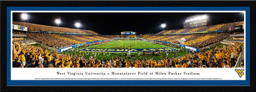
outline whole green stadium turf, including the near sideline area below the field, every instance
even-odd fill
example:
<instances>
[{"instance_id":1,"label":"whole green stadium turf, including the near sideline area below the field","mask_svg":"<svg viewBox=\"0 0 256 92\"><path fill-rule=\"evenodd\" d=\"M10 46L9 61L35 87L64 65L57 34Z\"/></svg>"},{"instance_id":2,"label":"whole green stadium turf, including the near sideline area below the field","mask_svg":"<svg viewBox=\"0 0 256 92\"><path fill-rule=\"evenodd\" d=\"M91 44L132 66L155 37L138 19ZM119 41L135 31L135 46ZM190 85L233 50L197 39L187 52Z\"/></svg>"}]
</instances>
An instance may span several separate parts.
<instances>
[{"instance_id":1,"label":"whole green stadium turf, including the near sideline area below the field","mask_svg":"<svg viewBox=\"0 0 256 92\"><path fill-rule=\"evenodd\" d=\"M174 47L168 47L168 46L165 46L165 45L151 44L150 42L146 42L146 41L143 41L143 40L136 40L136 42L137 42L137 47L135 45L135 40L123 40L123 45L126 46L126 47L128 45L132 45L132 48L164 48L164 47L174 48ZM116 46L117 44L121 47L121 40L113 40L111 42L106 42L105 44L94 45L92 47L82 47L82 48L95 48L95 46L97 46L97 48L110 48L110 46L113 48L113 46L114 45ZM70 52L67 50L67 51L62 52L62 53L63 54L69 53L70 55L76 54L78 56L82 55L82 53L84 53L84 58L89 58L89 56L94 56L95 52L92 54L92 53L87 52L87 51L84 51L84 52L77 51L77 50L80 50L82 48L76 48L76 49L74 49L73 51L70 51ZM180 48L177 48L177 49L180 49ZM112 56L114 58L116 58L116 56L120 56L120 55L121 55L122 58L125 57L126 59L129 57L129 56L128 57L124 56L125 52L124 53L111 53L110 52L110 55L107 55L106 52L104 52L104 53L105 53L105 55L103 55L102 52L97 52L96 58L98 58L98 59L110 59L110 58L112 58ZM168 54L168 57L172 58L172 57L183 56L183 55L186 55L186 53L187 53L186 51L178 52L177 55L176 55L175 52L170 52ZM132 58L133 60L139 59L139 58L141 58L141 59L143 59L143 58L154 58L156 60L160 60L161 56L162 56L162 58L165 58L167 56L165 52L162 52L159 56L142 55L141 52L140 52L140 55L141 55L140 57L138 57L138 53L131 53L131 55L135 55L135 58Z\"/></svg>"}]
</instances>

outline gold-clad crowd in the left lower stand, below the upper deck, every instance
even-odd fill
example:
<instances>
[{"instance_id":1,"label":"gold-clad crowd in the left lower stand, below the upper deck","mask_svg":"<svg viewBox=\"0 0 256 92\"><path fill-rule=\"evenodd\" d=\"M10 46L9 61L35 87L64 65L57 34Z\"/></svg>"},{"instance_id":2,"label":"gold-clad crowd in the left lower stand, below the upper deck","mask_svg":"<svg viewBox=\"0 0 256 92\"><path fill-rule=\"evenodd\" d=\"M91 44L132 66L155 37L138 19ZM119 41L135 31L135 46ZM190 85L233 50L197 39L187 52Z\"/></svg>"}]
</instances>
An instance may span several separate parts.
<instances>
[{"instance_id":1,"label":"gold-clad crowd in the left lower stand, below the upper deck","mask_svg":"<svg viewBox=\"0 0 256 92\"><path fill-rule=\"evenodd\" d=\"M73 35L73 34L44 34L44 33L26 33L28 37L34 39L40 44L49 47L60 48L68 45L82 44L97 40L106 40L103 37L95 35Z\"/></svg>"}]
</instances>

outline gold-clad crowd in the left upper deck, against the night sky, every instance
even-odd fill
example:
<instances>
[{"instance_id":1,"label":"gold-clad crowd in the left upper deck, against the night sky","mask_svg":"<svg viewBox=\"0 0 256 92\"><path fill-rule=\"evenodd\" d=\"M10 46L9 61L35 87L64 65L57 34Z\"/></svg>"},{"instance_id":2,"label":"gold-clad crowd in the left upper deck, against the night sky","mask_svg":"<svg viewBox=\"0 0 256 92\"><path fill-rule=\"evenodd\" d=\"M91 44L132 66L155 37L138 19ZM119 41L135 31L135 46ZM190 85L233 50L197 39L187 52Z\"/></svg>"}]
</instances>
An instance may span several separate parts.
<instances>
[{"instance_id":1,"label":"gold-clad crowd in the left upper deck, against the night sky","mask_svg":"<svg viewBox=\"0 0 256 92\"><path fill-rule=\"evenodd\" d=\"M62 32L62 33L82 33L82 34L98 34L94 31L85 30L85 29L73 29L73 28L63 28L57 26L46 26L38 25L33 23L24 23L20 21L13 21L14 25L26 26L29 31L52 31L52 32Z\"/></svg>"}]
</instances>

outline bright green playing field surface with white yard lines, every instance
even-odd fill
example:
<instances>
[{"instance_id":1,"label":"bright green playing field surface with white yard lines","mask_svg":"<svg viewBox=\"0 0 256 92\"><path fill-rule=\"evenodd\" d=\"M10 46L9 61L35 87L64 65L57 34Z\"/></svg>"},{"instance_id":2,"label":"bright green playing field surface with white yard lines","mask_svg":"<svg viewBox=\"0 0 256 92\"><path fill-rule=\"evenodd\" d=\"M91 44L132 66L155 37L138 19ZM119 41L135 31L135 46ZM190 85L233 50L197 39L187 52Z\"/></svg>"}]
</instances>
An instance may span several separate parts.
<instances>
[{"instance_id":1,"label":"bright green playing field surface with white yard lines","mask_svg":"<svg viewBox=\"0 0 256 92\"><path fill-rule=\"evenodd\" d=\"M136 43L136 44L135 44ZM116 47L116 45L118 45L119 47L125 46L126 48L128 48L128 46L132 45L132 47L130 48L169 48L168 46L165 45L158 45L158 44L152 44L150 42L146 42L144 40L113 40L111 42L106 42L105 44L100 44L100 45L94 45L92 47L88 47L88 48L114 48L114 46ZM170 47L170 48L174 48L174 47Z\"/></svg>"}]
</instances>

